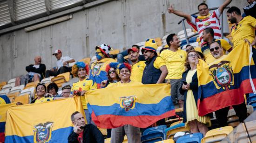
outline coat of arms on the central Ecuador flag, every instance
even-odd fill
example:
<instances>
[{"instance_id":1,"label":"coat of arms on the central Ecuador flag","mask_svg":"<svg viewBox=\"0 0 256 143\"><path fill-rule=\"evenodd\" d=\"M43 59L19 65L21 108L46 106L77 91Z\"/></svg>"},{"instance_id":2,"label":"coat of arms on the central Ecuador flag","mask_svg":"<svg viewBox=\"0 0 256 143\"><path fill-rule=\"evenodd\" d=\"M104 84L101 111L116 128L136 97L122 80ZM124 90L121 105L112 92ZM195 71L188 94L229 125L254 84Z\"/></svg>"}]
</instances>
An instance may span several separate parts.
<instances>
[{"instance_id":1,"label":"coat of arms on the central Ecuador flag","mask_svg":"<svg viewBox=\"0 0 256 143\"><path fill-rule=\"evenodd\" d=\"M125 111L135 108L136 96L120 97L120 107Z\"/></svg>"}]
</instances>

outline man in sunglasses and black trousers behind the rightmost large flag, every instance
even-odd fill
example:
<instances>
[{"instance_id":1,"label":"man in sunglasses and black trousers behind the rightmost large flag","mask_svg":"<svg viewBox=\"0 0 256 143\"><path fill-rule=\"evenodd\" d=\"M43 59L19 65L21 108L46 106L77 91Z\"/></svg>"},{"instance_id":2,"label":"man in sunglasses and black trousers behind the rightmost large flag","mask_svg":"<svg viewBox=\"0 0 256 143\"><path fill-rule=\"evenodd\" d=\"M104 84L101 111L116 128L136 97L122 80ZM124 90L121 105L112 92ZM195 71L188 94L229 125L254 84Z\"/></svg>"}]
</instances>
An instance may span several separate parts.
<instances>
[{"instance_id":1,"label":"man in sunglasses and black trousers behind the rightmost large flag","mask_svg":"<svg viewBox=\"0 0 256 143\"><path fill-rule=\"evenodd\" d=\"M214 41L210 44L210 52L212 56L216 58L216 60L221 60L226 56L223 54L222 46L217 41ZM236 99L232 99L232 100L236 100ZM239 121L243 122L243 120L247 117L247 108L246 108L245 102L243 102L242 104L232 105L232 106L236 111L236 115L239 117ZM215 111L217 122L219 123L220 127L228 125L227 124L228 112L229 112L229 107L225 107Z\"/></svg>"}]
</instances>

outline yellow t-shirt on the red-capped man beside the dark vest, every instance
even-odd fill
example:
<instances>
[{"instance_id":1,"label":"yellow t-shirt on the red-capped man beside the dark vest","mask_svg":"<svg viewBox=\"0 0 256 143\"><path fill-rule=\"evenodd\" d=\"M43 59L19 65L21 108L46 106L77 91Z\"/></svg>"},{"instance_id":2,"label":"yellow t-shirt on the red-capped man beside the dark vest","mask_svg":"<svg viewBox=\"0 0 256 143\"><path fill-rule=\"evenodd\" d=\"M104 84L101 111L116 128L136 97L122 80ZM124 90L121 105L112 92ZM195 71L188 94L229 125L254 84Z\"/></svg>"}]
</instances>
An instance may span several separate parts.
<instances>
[{"instance_id":1,"label":"yellow t-shirt on the red-capped man beside the dark vest","mask_svg":"<svg viewBox=\"0 0 256 143\"><path fill-rule=\"evenodd\" d=\"M145 61L139 61L138 63L131 66L132 75L130 78L132 81L141 82L145 66L146 66Z\"/></svg>"}]
</instances>

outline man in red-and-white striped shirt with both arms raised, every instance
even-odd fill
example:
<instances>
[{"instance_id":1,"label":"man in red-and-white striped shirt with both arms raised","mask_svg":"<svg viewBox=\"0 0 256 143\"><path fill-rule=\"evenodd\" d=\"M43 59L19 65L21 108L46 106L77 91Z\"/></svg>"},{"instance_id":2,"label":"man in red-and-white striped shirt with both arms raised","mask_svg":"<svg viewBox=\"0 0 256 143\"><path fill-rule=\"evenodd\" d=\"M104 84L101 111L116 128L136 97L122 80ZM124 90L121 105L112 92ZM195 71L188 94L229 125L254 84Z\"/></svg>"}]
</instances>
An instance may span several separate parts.
<instances>
[{"instance_id":1,"label":"man in red-and-white striped shirt with both arms raised","mask_svg":"<svg viewBox=\"0 0 256 143\"><path fill-rule=\"evenodd\" d=\"M199 33L200 41L203 43L202 30L207 27L211 27L215 30L215 39L221 39L221 26L219 18L223 13L224 8L227 7L231 1L232 0L225 0L225 2L211 14L209 14L209 8L207 4L201 3L197 7L200 16L189 15L187 13L177 11L173 8L173 6L168 8L168 12L186 18L189 25L191 25Z\"/></svg>"}]
</instances>

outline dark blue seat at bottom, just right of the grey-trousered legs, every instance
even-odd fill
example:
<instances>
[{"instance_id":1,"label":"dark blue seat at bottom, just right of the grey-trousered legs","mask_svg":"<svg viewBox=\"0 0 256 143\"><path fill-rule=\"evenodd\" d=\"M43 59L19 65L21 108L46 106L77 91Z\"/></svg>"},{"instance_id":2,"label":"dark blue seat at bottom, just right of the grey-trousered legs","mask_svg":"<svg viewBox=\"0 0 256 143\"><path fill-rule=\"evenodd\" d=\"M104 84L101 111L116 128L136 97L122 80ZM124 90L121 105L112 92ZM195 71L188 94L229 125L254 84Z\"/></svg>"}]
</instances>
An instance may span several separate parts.
<instances>
[{"instance_id":1,"label":"dark blue seat at bottom, just right of the grey-trousered legs","mask_svg":"<svg viewBox=\"0 0 256 143\"><path fill-rule=\"evenodd\" d=\"M164 130L166 125L148 128L141 136L141 143L155 143L165 139Z\"/></svg>"}]
</instances>

